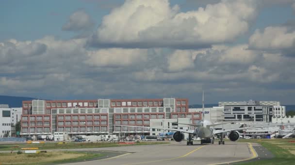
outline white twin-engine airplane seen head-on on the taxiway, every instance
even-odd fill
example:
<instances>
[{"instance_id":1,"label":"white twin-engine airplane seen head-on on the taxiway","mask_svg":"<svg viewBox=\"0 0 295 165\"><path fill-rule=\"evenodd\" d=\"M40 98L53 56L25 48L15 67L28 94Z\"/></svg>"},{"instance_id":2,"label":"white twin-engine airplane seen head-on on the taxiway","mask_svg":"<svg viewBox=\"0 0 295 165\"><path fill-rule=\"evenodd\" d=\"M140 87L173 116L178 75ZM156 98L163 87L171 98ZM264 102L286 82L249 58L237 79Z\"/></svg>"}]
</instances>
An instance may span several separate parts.
<instances>
[{"instance_id":1,"label":"white twin-engine airplane seen head-on on the taxiway","mask_svg":"<svg viewBox=\"0 0 295 165\"><path fill-rule=\"evenodd\" d=\"M202 99L202 105L203 105L203 112L202 112L202 119L204 119L204 91L203 91L203 99ZM232 123L232 122L230 122ZM221 130L215 130L214 126L216 125L222 125L222 124L229 124L229 123L219 123L219 124L213 124L213 122L209 120L200 120L197 122L197 124L183 124L178 123L182 125L190 125L197 127L195 130L183 130L183 129L175 129L175 128L163 128L163 127L144 127L144 126L133 126L133 125L116 125L115 126L126 126L126 127L138 127L138 128L154 128L154 129L162 129L164 131L174 131L172 138L180 142L184 139L184 134L189 134L189 139L187 141L187 145L193 145L192 137L201 138L201 144L203 143L214 143L215 137L219 135L220 141L218 141L218 144L225 144L223 140L223 134L229 132L229 139L231 141L237 141L240 138L239 130L246 130L250 128L262 128L266 126L254 126L254 127L242 127L242 128L234 128L234 129L221 129ZM267 126L275 126L275 125L267 125Z\"/></svg>"}]
</instances>

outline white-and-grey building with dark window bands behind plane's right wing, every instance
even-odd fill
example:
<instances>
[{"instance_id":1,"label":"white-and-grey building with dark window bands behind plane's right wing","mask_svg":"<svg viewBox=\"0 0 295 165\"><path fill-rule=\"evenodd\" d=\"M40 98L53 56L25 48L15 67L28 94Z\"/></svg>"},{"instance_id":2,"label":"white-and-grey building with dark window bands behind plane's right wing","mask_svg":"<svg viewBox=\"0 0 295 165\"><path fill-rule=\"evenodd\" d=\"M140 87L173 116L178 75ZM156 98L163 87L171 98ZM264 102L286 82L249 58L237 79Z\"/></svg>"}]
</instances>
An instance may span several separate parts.
<instances>
[{"instance_id":1,"label":"white-and-grey building with dark window bands behind plane's right wing","mask_svg":"<svg viewBox=\"0 0 295 165\"><path fill-rule=\"evenodd\" d=\"M267 101L263 101L263 104ZM278 101L269 101L270 105L262 105L260 101L249 100L240 102L219 102L219 106L224 107L224 117L226 121L254 121L271 122L273 115L273 105L278 105Z\"/></svg>"}]
</instances>

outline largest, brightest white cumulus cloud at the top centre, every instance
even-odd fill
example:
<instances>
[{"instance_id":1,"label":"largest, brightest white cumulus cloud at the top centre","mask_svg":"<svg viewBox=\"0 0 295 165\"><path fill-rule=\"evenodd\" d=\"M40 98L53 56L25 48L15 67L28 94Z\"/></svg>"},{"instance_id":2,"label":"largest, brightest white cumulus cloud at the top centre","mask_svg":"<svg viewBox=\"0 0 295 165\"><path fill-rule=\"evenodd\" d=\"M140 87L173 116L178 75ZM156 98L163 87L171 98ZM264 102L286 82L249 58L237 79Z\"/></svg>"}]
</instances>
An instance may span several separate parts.
<instances>
[{"instance_id":1,"label":"largest, brightest white cumulus cloud at the top centre","mask_svg":"<svg viewBox=\"0 0 295 165\"><path fill-rule=\"evenodd\" d=\"M168 0L126 0L104 16L89 44L110 47L199 48L231 42L248 31L254 0L222 0L186 13Z\"/></svg>"}]
</instances>

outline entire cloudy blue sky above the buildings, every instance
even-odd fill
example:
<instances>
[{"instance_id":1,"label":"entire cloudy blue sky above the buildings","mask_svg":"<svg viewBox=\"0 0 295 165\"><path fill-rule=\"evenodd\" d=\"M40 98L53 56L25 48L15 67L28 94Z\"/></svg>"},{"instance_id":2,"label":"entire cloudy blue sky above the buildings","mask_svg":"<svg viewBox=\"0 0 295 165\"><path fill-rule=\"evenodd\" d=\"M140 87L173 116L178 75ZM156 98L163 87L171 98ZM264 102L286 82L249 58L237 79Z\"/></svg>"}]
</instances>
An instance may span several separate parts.
<instances>
[{"instance_id":1,"label":"entire cloudy blue sky above the buildings","mask_svg":"<svg viewBox=\"0 0 295 165\"><path fill-rule=\"evenodd\" d=\"M0 95L295 104L295 0L1 0Z\"/></svg>"}]
</instances>

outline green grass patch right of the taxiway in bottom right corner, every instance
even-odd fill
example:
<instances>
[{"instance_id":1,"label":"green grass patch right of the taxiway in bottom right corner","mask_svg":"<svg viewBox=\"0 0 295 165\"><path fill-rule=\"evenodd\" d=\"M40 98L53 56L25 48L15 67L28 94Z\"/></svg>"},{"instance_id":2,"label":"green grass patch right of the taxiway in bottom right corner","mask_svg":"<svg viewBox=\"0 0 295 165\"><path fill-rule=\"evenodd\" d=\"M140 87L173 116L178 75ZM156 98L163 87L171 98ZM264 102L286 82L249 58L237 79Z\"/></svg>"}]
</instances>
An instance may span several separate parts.
<instances>
[{"instance_id":1,"label":"green grass patch right of the taxiway in bottom right corner","mask_svg":"<svg viewBox=\"0 0 295 165\"><path fill-rule=\"evenodd\" d=\"M295 164L295 143L289 143L295 139L241 139L243 142L255 142L261 144L271 151L275 158L260 160L238 165L294 165Z\"/></svg>"}]
</instances>

